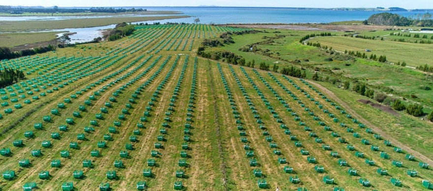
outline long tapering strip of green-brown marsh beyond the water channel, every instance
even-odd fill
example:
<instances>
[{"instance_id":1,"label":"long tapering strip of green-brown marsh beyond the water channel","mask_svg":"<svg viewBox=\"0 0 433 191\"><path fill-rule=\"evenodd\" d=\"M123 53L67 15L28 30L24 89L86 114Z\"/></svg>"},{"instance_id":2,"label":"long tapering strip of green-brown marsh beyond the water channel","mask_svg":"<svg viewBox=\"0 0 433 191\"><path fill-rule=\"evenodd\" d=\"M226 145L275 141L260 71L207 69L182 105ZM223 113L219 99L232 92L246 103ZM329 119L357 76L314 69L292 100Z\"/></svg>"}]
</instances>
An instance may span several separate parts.
<instances>
[{"instance_id":1,"label":"long tapering strip of green-brown marsh beyond the water channel","mask_svg":"<svg viewBox=\"0 0 433 191\"><path fill-rule=\"evenodd\" d=\"M99 27L122 22L154 21L163 19L186 18L189 16L152 16L152 17L108 17L87 19L66 19L56 21L1 21L0 32L35 31L44 29Z\"/></svg>"}]
</instances>

